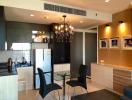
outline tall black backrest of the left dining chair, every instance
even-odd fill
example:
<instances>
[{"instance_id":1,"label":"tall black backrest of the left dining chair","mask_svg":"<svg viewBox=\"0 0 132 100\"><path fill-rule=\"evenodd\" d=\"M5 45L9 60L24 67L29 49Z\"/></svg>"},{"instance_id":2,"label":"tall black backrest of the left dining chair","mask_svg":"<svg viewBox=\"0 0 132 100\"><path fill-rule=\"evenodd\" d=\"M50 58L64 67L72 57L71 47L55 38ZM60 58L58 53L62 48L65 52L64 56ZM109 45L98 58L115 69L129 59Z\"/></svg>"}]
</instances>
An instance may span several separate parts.
<instances>
[{"instance_id":1,"label":"tall black backrest of the left dining chair","mask_svg":"<svg viewBox=\"0 0 132 100\"><path fill-rule=\"evenodd\" d=\"M39 89L39 93L43 97L44 92L46 92L46 80L45 80L44 72L43 72L42 69L38 68L38 74L39 74L39 78L40 78L40 89Z\"/></svg>"}]
</instances>

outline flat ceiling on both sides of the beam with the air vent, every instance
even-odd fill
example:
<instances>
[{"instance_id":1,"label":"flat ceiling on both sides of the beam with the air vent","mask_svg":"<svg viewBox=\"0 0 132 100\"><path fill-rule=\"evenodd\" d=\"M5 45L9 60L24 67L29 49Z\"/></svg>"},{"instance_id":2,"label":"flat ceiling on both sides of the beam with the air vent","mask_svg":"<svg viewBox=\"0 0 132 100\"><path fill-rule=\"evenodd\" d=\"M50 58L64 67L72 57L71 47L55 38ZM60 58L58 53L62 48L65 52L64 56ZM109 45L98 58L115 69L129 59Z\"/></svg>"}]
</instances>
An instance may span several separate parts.
<instances>
[{"instance_id":1,"label":"flat ceiling on both sides of the beam with the air vent","mask_svg":"<svg viewBox=\"0 0 132 100\"><path fill-rule=\"evenodd\" d=\"M105 0L76 0L76 1L41 0L41 1L50 1L54 3L92 9L92 10L107 12L111 14L122 11L132 6L132 0L111 0L108 3L106 3ZM34 14L34 16L31 17L30 14ZM48 18L46 18L47 16ZM13 7L5 7L5 17L7 21L18 21L18 22L37 23L37 24L60 23L63 21L62 13L40 12L40 11L33 11L27 9L13 8ZM66 21L69 22L75 28L89 28L92 26L97 26L99 24L106 23L99 20L92 20L86 17L68 15L68 14Z\"/></svg>"}]
</instances>

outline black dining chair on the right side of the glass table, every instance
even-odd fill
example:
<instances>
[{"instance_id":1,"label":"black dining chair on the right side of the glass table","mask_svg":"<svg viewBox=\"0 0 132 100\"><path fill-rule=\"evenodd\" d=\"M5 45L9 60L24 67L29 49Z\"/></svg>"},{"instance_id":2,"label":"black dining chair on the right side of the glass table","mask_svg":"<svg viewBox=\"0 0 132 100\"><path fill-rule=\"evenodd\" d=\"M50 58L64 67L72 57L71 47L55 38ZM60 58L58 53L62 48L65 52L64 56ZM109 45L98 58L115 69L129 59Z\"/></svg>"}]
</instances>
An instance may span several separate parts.
<instances>
[{"instance_id":1,"label":"black dining chair on the right side of the glass table","mask_svg":"<svg viewBox=\"0 0 132 100\"><path fill-rule=\"evenodd\" d=\"M74 87L74 92L75 92L75 87L80 86L81 88L84 88L87 92L87 82L86 82L86 75L87 75L87 66L86 65L80 65L79 67L79 72L76 80L70 79L66 83ZM88 93L88 92L87 92Z\"/></svg>"}]
</instances>

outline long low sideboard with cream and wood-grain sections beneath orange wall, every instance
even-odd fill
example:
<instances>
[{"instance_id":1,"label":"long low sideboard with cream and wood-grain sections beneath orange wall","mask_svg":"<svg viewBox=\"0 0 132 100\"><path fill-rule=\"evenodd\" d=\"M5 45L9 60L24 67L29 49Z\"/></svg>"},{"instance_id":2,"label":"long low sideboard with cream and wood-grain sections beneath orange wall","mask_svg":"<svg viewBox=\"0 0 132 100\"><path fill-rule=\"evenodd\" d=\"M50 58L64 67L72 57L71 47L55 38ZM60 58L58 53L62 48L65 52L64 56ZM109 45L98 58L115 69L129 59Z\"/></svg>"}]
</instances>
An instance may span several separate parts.
<instances>
[{"instance_id":1,"label":"long low sideboard with cream and wood-grain sections beneath orange wall","mask_svg":"<svg viewBox=\"0 0 132 100\"><path fill-rule=\"evenodd\" d=\"M92 63L91 79L104 88L122 94L125 86L132 85L132 70L120 66Z\"/></svg>"}]
</instances>

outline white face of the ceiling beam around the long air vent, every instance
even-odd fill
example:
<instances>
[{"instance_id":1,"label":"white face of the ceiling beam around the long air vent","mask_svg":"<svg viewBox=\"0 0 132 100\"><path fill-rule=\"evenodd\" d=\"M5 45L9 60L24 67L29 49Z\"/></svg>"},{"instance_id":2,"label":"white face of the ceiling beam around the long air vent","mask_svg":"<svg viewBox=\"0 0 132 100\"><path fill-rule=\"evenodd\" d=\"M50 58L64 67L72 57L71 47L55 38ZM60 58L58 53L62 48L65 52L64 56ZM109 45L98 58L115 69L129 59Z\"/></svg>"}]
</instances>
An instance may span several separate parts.
<instances>
[{"instance_id":1,"label":"white face of the ceiling beam around the long air vent","mask_svg":"<svg viewBox=\"0 0 132 100\"><path fill-rule=\"evenodd\" d=\"M46 11L44 10L45 2L46 1L42 1L42 0L0 0L0 5L45 12ZM62 5L62 4L57 4L57 5ZM62 5L62 6L70 7L68 5ZM76 7L72 7L72 8L76 8ZM83 8L79 8L79 9L83 9ZM87 15L84 16L85 18L104 21L104 22L112 21L112 14L90 10L90 9L85 9L85 10L87 12Z\"/></svg>"}]
</instances>

